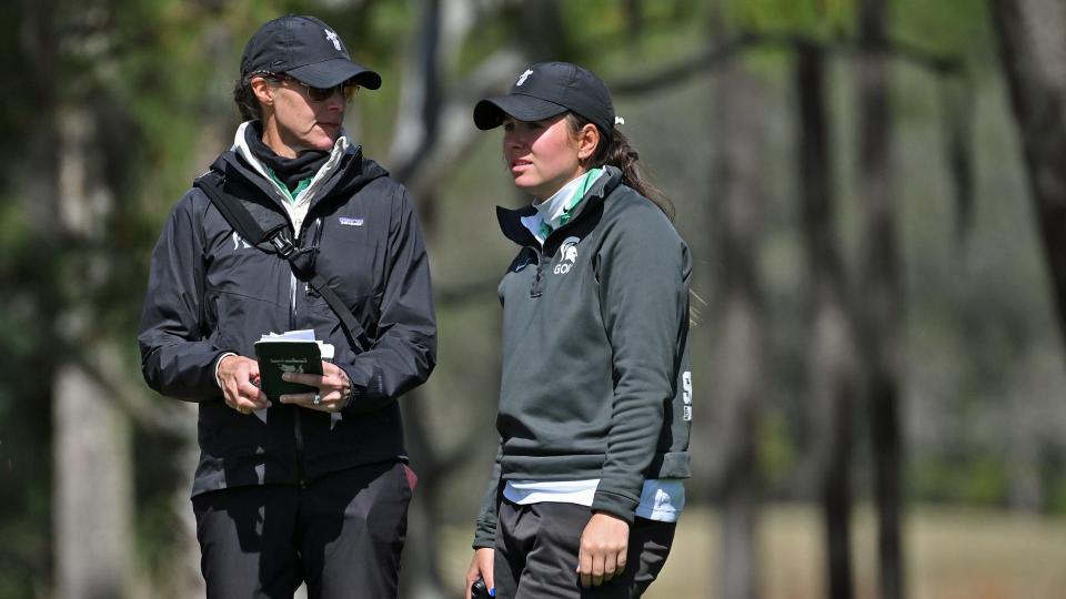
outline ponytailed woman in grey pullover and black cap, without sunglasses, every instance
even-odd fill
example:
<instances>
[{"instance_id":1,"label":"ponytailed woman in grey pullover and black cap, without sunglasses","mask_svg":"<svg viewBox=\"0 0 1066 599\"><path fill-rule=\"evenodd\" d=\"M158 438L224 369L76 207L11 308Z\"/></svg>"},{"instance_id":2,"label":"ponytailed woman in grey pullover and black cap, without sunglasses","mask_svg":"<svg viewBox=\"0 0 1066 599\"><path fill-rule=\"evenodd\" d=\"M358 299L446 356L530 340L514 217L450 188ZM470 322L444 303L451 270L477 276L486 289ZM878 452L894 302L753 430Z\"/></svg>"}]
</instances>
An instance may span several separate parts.
<instances>
[{"instance_id":1,"label":"ponytailed woman in grey pullover and black cap, without sunglasses","mask_svg":"<svg viewBox=\"0 0 1066 599\"><path fill-rule=\"evenodd\" d=\"M466 587L638 597L685 501L688 248L587 70L534 64L474 123L504 126L504 160L533 197L496 209L520 250L499 290L500 449Z\"/></svg>"}]
</instances>

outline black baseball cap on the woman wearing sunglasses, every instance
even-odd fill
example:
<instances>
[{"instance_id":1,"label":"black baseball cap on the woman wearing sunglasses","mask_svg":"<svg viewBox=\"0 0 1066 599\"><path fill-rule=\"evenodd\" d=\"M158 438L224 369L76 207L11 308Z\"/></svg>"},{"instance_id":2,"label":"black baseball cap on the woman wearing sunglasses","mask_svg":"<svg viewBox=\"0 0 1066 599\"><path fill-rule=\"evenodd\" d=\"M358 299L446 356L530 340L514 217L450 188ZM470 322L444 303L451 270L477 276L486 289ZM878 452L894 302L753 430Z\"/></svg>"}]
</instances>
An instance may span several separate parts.
<instances>
[{"instance_id":1,"label":"black baseball cap on the woman wearing sunglasses","mask_svg":"<svg viewBox=\"0 0 1066 599\"><path fill-rule=\"evenodd\" d=\"M286 73L313 88L349 80L371 90L381 87L381 75L352 62L336 31L314 17L289 14L259 28L244 47L241 79L262 71Z\"/></svg>"}]
</instances>

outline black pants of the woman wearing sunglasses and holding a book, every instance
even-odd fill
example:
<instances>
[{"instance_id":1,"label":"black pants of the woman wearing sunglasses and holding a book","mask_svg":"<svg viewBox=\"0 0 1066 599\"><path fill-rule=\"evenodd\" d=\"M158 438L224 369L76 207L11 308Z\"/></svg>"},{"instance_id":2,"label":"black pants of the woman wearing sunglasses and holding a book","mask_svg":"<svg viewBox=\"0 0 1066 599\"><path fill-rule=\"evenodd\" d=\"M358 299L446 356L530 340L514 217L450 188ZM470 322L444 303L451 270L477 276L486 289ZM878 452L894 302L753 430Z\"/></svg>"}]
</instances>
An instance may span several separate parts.
<instances>
[{"instance_id":1,"label":"black pants of the woman wearing sunglasses and holding a book","mask_svg":"<svg viewBox=\"0 0 1066 599\"><path fill-rule=\"evenodd\" d=\"M208 598L396 597L410 500L400 463L193 497Z\"/></svg>"}]
</instances>

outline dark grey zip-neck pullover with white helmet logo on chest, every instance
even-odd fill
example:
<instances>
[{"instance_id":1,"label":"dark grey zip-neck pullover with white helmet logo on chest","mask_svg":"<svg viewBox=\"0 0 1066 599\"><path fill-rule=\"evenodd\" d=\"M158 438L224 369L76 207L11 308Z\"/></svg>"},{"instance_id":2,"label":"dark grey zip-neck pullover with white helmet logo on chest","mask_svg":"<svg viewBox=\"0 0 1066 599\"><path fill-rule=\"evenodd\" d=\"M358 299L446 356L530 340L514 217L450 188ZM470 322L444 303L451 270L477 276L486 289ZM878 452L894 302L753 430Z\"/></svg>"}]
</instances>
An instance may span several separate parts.
<instances>
[{"instance_id":1,"label":"dark grey zip-neck pullover with white helmet logo on chest","mask_svg":"<svg viewBox=\"0 0 1066 599\"><path fill-rule=\"evenodd\" d=\"M502 480L600 479L591 509L632 522L645 479L687 478L688 247L613 166L543 248L522 246L500 283L500 450L474 544L492 547Z\"/></svg>"}]
</instances>

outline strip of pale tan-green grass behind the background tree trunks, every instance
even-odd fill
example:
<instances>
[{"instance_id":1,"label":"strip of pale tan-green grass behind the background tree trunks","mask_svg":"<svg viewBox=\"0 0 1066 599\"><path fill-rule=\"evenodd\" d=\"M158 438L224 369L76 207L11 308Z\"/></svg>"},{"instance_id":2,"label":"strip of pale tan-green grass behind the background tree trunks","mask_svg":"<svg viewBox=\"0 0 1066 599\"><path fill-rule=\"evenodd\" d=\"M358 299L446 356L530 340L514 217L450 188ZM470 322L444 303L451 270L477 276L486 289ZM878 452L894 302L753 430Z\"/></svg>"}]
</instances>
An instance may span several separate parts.
<instances>
[{"instance_id":1,"label":"strip of pale tan-green grass behind the background tree trunks","mask_svg":"<svg viewBox=\"0 0 1066 599\"><path fill-rule=\"evenodd\" d=\"M856 597L877 596L876 535L869 508L856 511L852 555ZM825 597L822 521L808 505L771 505L760 519L758 596ZM715 510L690 506L666 567L646 599L715 597L721 551ZM442 564L456 592L470 560L469 530L444 536ZM905 529L912 599L1066 597L1066 518L957 507L913 507Z\"/></svg>"}]
</instances>

